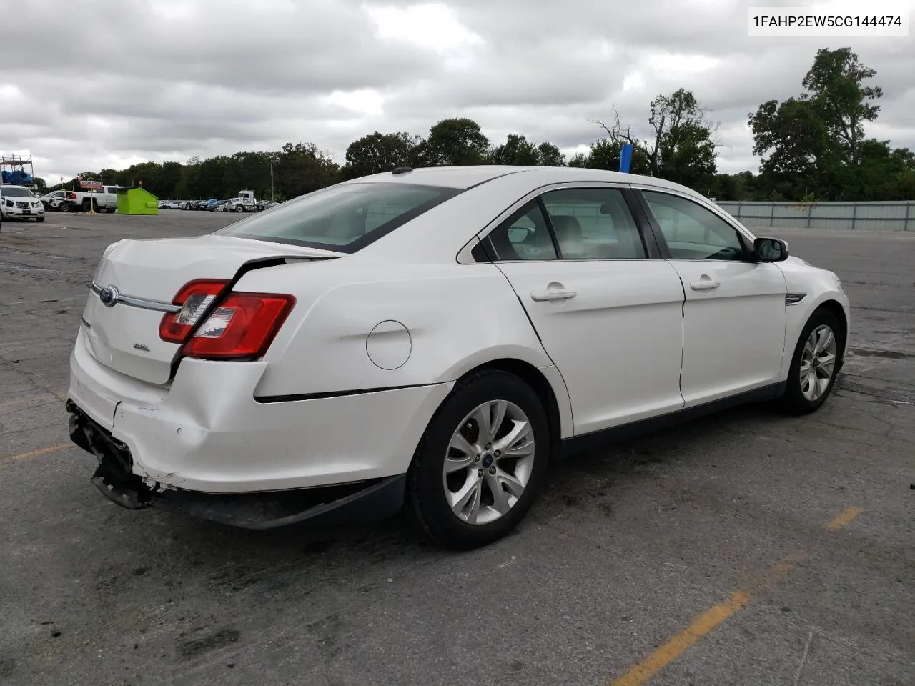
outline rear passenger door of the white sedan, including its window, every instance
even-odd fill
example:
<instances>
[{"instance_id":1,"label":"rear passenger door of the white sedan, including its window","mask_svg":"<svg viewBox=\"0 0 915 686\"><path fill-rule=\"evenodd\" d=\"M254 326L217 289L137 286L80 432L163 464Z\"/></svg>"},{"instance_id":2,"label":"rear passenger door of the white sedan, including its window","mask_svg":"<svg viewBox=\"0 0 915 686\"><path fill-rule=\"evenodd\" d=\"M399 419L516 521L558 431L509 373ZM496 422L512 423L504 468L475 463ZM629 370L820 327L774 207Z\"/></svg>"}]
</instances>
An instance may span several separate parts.
<instances>
[{"instance_id":1,"label":"rear passenger door of the white sedan, including its window","mask_svg":"<svg viewBox=\"0 0 915 686\"><path fill-rule=\"evenodd\" d=\"M565 380L576 435L683 407L683 287L627 190L547 189L483 242Z\"/></svg>"}]
</instances>

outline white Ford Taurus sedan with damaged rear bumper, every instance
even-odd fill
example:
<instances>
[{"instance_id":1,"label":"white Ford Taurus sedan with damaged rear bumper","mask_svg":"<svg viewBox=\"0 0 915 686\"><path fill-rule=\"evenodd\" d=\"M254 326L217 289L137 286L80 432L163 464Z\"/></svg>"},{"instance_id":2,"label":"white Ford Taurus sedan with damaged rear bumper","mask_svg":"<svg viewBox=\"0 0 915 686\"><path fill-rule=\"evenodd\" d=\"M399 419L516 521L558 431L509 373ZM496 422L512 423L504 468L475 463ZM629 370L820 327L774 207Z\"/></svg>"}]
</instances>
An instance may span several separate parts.
<instances>
[{"instance_id":1,"label":"white Ford Taurus sedan with damaged rear bumper","mask_svg":"<svg viewBox=\"0 0 915 686\"><path fill-rule=\"evenodd\" d=\"M547 461L739 402L808 413L839 279L694 191L574 168L396 169L102 255L70 435L130 509L247 528L511 530Z\"/></svg>"}]
</instances>

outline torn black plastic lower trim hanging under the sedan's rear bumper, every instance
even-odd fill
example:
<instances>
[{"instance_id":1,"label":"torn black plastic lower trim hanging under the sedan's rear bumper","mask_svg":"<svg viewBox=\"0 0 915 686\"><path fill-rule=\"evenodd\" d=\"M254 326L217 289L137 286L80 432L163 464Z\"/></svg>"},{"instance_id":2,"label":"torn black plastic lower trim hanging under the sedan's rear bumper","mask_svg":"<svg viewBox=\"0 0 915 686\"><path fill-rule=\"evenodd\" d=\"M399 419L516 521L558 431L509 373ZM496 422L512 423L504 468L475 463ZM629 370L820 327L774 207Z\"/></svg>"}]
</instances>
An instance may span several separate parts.
<instances>
[{"instance_id":1,"label":"torn black plastic lower trim hanging under the sedan's rear bumper","mask_svg":"<svg viewBox=\"0 0 915 686\"><path fill-rule=\"evenodd\" d=\"M72 401L70 440L99 460L92 483L105 498L126 509L153 507L242 529L275 529L381 520L404 505L406 475L340 484L257 493L202 493L150 487L133 473L130 449L83 413Z\"/></svg>"}]
</instances>

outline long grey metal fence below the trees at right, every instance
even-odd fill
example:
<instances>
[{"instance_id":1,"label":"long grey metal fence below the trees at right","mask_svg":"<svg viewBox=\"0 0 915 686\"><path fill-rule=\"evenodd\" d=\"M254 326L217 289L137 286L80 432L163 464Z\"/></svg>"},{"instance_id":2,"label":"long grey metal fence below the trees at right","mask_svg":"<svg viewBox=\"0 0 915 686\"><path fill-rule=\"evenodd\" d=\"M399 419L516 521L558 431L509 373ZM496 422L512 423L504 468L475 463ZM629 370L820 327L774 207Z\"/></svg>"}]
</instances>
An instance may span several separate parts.
<instances>
[{"instance_id":1,"label":"long grey metal fence below the trees at right","mask_svg":"<svg viewBox=\"0 0 915 686\"><path fill-rule=\"evenodd\" d=\"M915 231L915 200L894 202L737 202L718 205L750 229Z\"/></svg>"}]
</instances>

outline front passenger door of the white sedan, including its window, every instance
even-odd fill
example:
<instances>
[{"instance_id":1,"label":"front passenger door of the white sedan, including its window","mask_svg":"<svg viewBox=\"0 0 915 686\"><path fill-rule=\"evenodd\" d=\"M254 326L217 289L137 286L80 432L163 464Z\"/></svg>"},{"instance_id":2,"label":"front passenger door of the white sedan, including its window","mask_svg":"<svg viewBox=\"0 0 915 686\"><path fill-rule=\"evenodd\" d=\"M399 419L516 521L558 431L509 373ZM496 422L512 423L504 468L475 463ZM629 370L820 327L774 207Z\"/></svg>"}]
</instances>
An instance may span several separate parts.
<instances>
[{"instance_id":1,"label":"front passenger door of the white sedan, including its window","mask_svg":"<svg viewBox=\"0 0 915 686\"><path fill-rule=\"evenodd\" d=\"M787 292L778 265L757 262L723 212L672 191L640 193L684 285L685 407L777 383Z\"/></svg>"}]
</instances>

